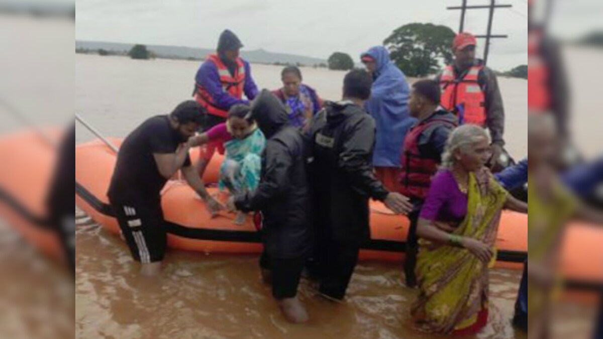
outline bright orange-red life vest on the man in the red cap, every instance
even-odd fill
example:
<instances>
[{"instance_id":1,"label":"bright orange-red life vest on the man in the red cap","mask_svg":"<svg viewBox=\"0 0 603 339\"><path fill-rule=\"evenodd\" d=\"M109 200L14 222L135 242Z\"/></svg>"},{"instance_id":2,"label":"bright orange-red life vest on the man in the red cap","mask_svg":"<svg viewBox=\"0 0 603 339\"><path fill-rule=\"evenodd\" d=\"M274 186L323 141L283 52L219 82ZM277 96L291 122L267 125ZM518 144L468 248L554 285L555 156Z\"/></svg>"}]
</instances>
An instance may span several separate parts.
<instances>
[{"instance_id":1,"label":"bright orange-red life vest on the man in the red cap","mask_svg":"<svg viewBox=\"0 0 603 339\"><path fill-rule=\"evenodd\" d=\"M483 68L483 66L472 66L463 78L456 79L453 66L447 66L441 75L440 104L456 115L461 113L458 106L462 106L463 116L460 118L464 124L486 127L485 93L478 83L478 75Z\"/></svg>"}]
</instances>

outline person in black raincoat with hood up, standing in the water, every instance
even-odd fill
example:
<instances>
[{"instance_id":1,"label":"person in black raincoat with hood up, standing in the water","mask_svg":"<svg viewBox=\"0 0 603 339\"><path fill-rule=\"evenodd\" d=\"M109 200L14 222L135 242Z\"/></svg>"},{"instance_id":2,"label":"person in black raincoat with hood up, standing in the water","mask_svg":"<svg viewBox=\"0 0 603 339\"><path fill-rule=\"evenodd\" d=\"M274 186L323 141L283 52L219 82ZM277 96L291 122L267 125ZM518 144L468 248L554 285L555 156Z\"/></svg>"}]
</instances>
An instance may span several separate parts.
<instances>
[{"instance_id":1,"label":"person in black raincoat with hood up, standing in the water","mask_svg":"<svg viewBox=\"0 0 603 339\"><path fill-rule=\"evenodd\" d=\"M259 186L229 204L243 212L261 211L264 253L260 265L271 270L273 296L285 317L290 322L305 322L308 315L296 294L314 239L309 223L306 143L289 125L285 107L268 90L254 101L251 118L267 139Z\"/></svg>"}]
</instances>

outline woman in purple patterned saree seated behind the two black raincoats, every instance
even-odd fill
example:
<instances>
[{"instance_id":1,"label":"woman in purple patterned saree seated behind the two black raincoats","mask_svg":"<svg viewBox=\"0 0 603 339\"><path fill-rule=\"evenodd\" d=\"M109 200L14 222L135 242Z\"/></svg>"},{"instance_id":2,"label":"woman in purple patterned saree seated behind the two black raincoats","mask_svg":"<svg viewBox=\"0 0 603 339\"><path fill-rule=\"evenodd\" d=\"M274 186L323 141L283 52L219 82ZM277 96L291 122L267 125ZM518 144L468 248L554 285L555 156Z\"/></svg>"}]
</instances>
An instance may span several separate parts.
<instances>
[{"instance_id":1,"label":"woman in purple patterned saree seated behind the two black raincoats","mask_svg":"<svg viewBox=\"0 0 603 339\"><path fill-rule=\"evenodd\" d=\"M283 87L272 93L283 103L293 127L306 127L312 117L318 113L323 102L316 90L301 83L301 71L295 66L287 66L281 72Z\"/></svg>"}]
</instances>

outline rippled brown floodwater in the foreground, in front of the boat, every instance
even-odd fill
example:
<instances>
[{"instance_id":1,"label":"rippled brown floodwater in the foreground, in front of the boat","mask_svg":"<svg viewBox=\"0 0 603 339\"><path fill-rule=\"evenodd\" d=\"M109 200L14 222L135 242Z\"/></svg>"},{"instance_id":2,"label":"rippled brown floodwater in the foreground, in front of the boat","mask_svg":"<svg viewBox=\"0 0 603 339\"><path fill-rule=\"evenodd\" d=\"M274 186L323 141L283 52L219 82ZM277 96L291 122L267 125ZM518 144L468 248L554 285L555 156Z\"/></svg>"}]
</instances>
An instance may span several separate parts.
<instances>
[{"instance_id":1,"label":"rippled brown floodwater in the foreground, in front of the boat","mask_svg":"<svg viewBox=\"0 0 603 339\"><path fill-rule=\"evenodd\" d=\"M83 220L86 223L87 220ZM77 228L75 325L80 338L432 338L412 331L416 292L402 266L363 262L346 303L323 299L307 280L311 321L290 325L259 276L255 256L171 251L160 279L139 277L119 236ZM479 338L523 338L510 325L520 272L491 272L490 325Z\"/></svg>"}]
</instances>

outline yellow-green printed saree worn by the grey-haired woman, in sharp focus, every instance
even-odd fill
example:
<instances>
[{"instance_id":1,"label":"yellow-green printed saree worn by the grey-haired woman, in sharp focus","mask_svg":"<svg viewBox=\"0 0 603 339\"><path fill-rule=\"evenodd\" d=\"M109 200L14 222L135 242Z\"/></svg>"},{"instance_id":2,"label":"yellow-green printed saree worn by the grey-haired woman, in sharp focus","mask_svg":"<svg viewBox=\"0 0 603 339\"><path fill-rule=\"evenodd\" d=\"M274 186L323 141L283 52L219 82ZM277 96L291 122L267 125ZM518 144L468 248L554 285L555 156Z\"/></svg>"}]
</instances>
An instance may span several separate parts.
<instances>
[{"instance_id":1,"label":"yellow-green printed saree worn by the grey-haired woman, in sharp focus","mask_svg":"<svg viewBox=\"0 0 603 339\"><path fill-rule=\"evenodd\" d=\"M453 232L494 249L505 191L490 172L471 173L467 215ZM412 316L421 331L450 334L471 328L488 307L488 265L466 249L421 239L417 258L420 289Z\"/></svg>"}]
</instances>

